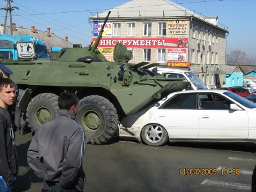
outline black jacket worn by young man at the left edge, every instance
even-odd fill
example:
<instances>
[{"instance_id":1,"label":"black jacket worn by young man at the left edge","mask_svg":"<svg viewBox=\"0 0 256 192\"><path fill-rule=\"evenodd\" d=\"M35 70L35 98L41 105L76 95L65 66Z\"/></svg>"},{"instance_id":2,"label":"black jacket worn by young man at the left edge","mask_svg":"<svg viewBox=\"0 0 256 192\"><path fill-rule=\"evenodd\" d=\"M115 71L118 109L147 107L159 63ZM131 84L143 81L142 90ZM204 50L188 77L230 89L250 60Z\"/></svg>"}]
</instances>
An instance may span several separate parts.
<instances>
[{"instance_id":1,"label":"black jacket worn by young man at the left edge","mask_svg":"<svg viewBox=\"0 0 256 192\"><path fill-rule=\"evenodd\" d=\"M15 136L8 111L0 107L0 175L11 182L19 172Z\"/></svg>"}]
</instances>

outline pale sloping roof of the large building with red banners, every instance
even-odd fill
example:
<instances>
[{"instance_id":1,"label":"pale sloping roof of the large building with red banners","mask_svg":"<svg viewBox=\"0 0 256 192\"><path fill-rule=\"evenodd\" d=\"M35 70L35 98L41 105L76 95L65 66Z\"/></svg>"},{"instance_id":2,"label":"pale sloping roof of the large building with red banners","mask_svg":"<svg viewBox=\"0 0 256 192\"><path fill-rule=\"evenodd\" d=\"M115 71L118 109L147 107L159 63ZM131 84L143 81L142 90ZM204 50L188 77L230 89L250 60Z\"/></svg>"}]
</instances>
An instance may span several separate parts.
<instances>
[{"instance_id":1,"label":"pale sloping roof of the large building with red banners","mask_svg":"<svg viewBox=\"0 0 256 192\"><path fill-rule=\"evenodd\" d=\"M218 17L201 17L195 12L191 12L183 6L168 0L131 0L128 3L124 3L120 6L112 8L111 10L94 15L93 17L90 17L90 19L105 19L109 11L111 11L109 19L196 17L199 20L208 22L209 24L212 24L215 27L228 32L227 29L221 28L220 26L210 21L210 18Z\"/></svg>"}]
</instances>

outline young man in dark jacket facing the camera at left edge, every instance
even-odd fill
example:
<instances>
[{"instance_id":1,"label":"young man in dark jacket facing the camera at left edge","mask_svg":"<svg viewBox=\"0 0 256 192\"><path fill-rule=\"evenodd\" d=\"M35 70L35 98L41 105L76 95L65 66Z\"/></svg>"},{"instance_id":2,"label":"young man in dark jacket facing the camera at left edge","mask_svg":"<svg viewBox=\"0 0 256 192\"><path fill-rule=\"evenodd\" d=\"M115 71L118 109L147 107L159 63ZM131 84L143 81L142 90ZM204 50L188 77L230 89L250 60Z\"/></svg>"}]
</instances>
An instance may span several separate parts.
<instances>
[{"instance_id":1,"label":"young man in dark jacket facing the camera at left edge","mask_svg":"<svg viewBox=\"0 0 256 192\"><path fill-rule=\"evenodd\" d=\"M0 191L13 191L13 182L19 172L15 136L8 106L15 101L15 83L0 78Z\"/></svg>"}]
</instances>

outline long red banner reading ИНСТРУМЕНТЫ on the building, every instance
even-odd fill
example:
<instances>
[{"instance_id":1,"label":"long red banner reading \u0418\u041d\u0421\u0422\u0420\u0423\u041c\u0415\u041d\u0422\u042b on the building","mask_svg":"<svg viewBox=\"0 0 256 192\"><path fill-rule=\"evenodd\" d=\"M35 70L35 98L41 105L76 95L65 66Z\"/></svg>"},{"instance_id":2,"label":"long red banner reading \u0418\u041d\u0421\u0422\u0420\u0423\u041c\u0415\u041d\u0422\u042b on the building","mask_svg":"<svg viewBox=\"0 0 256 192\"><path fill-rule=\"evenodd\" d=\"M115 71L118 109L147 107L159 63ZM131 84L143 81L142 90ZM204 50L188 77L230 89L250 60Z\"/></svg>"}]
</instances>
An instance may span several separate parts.
<instances>
[{"instance_id":1,"label":"long red banner reading \u0418\u041d\u0421\u0422\u0420\u0423\u041c\u0415\u041d\u0422\u042b on the building","mask_svg":"<svg viewBox=\"0 0 256 192\"><path fill-rule=\"evenodd\" d=\"M101 38L98 47L111 48L117 43L131 48L187 48L188 38Z\"/></svg>"}]
</instances>

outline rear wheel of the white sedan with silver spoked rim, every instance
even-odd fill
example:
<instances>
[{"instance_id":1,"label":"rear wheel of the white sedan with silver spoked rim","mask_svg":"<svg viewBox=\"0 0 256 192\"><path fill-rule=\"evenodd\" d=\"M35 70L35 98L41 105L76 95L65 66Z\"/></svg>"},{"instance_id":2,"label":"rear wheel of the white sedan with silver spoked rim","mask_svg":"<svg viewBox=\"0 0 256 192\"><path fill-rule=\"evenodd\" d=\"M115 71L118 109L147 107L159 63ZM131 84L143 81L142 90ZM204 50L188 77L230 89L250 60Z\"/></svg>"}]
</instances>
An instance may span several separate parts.
<instances>
[{"instance_id":1,"label":"rear wheel of the white sedan with silver spoked rim","mask_svg":"<svg viewBox=\"0 0 256 192\"><path fill-rule=\"evenodd\" d=\"M143 127L141 137L147 145L152 146L161 146L168 142L167 131L158 124L149 124Z\"/></svg>"}]
</instances>

